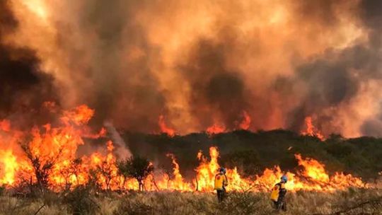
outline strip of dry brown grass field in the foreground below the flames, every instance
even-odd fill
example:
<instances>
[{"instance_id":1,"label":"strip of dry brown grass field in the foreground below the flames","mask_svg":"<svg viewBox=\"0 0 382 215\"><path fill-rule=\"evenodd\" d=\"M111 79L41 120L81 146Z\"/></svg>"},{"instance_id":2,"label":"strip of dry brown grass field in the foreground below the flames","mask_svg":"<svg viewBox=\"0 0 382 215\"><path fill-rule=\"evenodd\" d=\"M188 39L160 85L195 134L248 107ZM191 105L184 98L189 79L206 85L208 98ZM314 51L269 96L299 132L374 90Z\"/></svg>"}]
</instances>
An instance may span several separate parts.
<instances>
[{"instance_id":1,"label":"strip of dry brown grass field in the foreground below the flames","mask_svg":"<svg viewBox=\"0 0 382 215\"><path fill-rule=\"evenodd\" d=\"M276 214L267 193L231 192L219 204L212 193L96 193L78 188L40 197L0 197L0 214ZM289 192L281 214L382 214L382 190Z\"/></svg>"}]
</instances>

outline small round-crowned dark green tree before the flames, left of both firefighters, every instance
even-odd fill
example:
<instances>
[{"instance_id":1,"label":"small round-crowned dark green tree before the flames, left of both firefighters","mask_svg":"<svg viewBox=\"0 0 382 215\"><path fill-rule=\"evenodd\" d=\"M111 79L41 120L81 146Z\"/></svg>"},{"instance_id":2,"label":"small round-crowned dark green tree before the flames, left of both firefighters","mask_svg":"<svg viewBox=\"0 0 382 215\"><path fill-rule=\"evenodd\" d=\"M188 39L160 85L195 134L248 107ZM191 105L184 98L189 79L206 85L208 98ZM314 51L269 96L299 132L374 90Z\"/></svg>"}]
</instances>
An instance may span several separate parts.
<instances>
[{"instance_id":1,"label":"small round-crowned dark green tree before the flames, left of both firefighters","mask_svg":"<svg viewBox=\"0 0 382 215\"><path fill-rule=\"evenodd\" d=\"M124 185L127 177L137 179L139 190L144 190L144 180L154 171L154 166L146 158L131 156L117 164L120 175L124 177ZM123 185L123 186L124 186Z\"/></svg>"}]
</instances>

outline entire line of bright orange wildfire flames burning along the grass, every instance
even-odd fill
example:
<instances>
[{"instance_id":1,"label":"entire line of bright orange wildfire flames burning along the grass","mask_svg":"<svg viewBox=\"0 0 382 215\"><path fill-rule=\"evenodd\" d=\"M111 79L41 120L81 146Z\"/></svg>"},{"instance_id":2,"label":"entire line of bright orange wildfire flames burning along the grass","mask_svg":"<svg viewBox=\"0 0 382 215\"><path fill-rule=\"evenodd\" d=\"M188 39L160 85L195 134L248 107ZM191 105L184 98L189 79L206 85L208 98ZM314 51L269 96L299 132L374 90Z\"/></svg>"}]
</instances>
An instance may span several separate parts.
<instances>
[{"instance_id":1,"label":"entire line of bright orange wildfire flames burning along the grass","mask_svg":"<svg viewBox=\"0 0 382 215\"><path fill-rule=\"evenodd\" d=\"M120 175L112 141L106 141L103 150L88 156L76 156L78 146L85 144L83 137L91 134L86 124L93 114L94 110L81 105L73 110L62 112L62 116L59 117L61 123L57 127L45 124L43 127L33 127L29 132L13 131L8 126L6 128L9 129L2 129L3 132L0 132L0 185L16 186L30 180L32 182L41 180L46 182L47 188L59 191L65 187L73 188L93 181L105 190L139 190L137 180ZM163 117L160 120L163 120ZM105 131L101 129L99 134L104 136ZM93 136L100 135L93 134ZM192 181L183 178L175 156L170 153L167 156L173 164L172 173L156 170L144 180L146 190L213 191L214 177L221 166L219 151L216 147L209 149L209 157L204 156L202 151L197 153L199 165L195 168L196 176ZM344 173L329 175L325 165L313 158L303 158L299 154L295 157L303 169L296 173L283 172L279 166L275 166L265 169L261 175L243 178L237 168L228 168L227 190L269 191L283 174L289 178L287 188L291 191L328 192L347 187L368 186L360 178L352 175Z\"/></svg>"}]
</instances>

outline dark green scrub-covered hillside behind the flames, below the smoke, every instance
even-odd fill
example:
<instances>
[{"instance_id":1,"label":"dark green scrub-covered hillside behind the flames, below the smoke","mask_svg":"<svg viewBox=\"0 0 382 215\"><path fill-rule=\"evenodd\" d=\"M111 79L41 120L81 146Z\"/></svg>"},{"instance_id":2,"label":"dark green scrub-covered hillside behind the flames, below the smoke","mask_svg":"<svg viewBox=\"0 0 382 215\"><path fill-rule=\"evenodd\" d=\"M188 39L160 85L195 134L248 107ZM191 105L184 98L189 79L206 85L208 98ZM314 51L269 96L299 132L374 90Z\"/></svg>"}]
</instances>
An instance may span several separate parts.
<instances>
[{"instance_id":1,"label":"dark green scrub-covered hillside behind the flames, below the smoke","mask_svg":"<svg viewBox=\"0 0 382 215\"><path fill-rule=\"evenodd\" d=\"M382 170L382 139L362 136L346 139L332 134L325 141L314 136L301 136L287 130L268 132L235 131L209 136L206 133L170 137L166 134L122 134L133 154L155 161L161 168L172 168L167 153L175 154L180 171L192 176L197 167L199 150L208 154L210 146L220 151L219 163L228 168L238 167L244 176L261 173L279 165L282 170L297 168L295 153L315 158L332 173L343 171L364 180L373 180Z\"/></svg>"}]
</instances>

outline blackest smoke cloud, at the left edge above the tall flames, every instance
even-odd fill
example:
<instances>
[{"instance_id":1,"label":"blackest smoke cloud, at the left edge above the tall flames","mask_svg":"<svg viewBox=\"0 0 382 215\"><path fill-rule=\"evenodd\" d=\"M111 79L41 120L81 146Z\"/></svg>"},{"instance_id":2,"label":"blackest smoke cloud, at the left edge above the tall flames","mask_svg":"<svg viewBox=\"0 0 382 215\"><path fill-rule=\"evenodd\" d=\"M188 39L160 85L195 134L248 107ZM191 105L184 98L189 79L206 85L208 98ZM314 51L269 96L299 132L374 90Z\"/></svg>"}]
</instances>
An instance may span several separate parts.
<instances>
[{"instance_id":1,"label":"blackest smoke cloud, at the left edge above the tall flames","mask_svg":"<svg viewBox=\"0 0 382 215\"><path fill-rule=\"evenodd\" d=\"M8 1L0 2L0 119L33 112L46 100L57 99L54 79L39 71L35 52L2 43L5 35L18 28L8 5Z\"/></svg>"}]
</instances>

